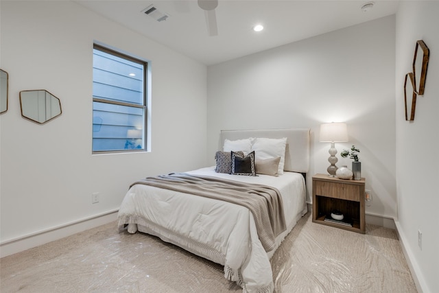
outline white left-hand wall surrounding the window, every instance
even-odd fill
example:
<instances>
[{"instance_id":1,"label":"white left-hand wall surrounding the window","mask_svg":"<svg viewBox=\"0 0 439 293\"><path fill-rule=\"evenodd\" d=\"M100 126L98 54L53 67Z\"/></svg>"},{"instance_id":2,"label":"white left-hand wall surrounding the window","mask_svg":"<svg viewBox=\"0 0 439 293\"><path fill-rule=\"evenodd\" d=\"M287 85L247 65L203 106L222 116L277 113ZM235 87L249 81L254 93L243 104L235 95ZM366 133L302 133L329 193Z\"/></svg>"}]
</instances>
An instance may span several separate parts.
<instances>
[{"instance_id":1,"label":"white left-hand wall surrounding the window","mask_svg":"<svg viewBox=\"0 0 439 293\"><path fill-rule=\"evenodd\" d=\"M0 116L2 244L115 211L139 178L205 165L206 66L71 1L0 5L10 85ZM92 155L94 40L150 60L152 152ZM44 125L23 119L19 92L32 89L56 95L62 115Z\"/></svg>"}]
</instances>

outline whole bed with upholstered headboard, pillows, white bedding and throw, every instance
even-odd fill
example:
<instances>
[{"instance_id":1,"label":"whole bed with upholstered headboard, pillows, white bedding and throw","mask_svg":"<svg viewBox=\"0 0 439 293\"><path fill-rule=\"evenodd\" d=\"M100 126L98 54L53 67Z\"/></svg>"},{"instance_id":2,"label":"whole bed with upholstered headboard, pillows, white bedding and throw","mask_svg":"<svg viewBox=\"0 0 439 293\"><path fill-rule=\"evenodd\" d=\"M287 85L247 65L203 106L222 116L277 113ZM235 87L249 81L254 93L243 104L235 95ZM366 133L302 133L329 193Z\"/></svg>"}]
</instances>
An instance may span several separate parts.
<instances>
[{"instance_id":1,"label":"whole bed with upholstered headboard, pillows, white bedding and throw","mask_svg":"<svg viewBox=\"0 0 439 293\"><path fill-rule=\"evenodd\" d=\"M278 141L284 141L285 146L272 150L266 143L273 141L276 147ZM265 152L267 149L270 150ZM283 157L276 156L276 152L283 152ZM224 166L219 164L218 155L229 153L232 174L224 172L221 169ZM222 130L215 158L214 166L134 182L119 209L119 228L128 227L128 233L140 231L155 235L224 265L224 277L235 281L243 292L273 292L270 258L296 222L307 213L305 174L309 170L309 129ZM240 173L243 169L239 168L247 164L249 158L252 159L251 166L254 167L254 162L255 170L261 172L256 172L257 176L241 176L244 175ZM273 161L279 162L276 167L272 167ZM248 172L254 175L255 170ZM163 179L185 180L184 187L168 189L167 185L161 185ZM158 180L158 185L154 180ZM202 188L209 189L211 194L215 193L211 188L217 188L217 184L221 188L233 184L230 192L222 191L233 196L227 200L218 200L215 194L213 197L195 196L193 194L198 194L198 191L191 194L185 189L186 180L202 180L203 184L209 184ZM234 200L239 196L233 193L235 185L239 186L236 189L241 189L241 185L254 187L250 193L259 192L259 189L267 193L276 191L273 197L280 196L281 209L268 204L271 213L264 218L252 207L236 204ZM285 220L283 228L274 227L276 233L265 237L261 226L275 222L275 216ZM270 221L264 220L267 217Z\"/></svg>"}]
</instances>

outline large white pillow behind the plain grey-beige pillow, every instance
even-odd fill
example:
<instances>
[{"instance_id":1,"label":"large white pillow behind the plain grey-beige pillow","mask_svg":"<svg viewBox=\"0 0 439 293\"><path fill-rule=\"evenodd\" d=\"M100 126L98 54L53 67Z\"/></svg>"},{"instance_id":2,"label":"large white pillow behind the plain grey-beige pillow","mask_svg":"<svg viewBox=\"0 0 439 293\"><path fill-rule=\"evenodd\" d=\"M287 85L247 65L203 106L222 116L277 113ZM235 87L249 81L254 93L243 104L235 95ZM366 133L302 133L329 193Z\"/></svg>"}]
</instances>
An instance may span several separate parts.
<instances>
[{"instance_id":1,"label":"large white pillow behind the plain grey-beige pillow","mask_svg":"<svg viewBox=\"0 0 439 293\"><path fill-rule=\"evenodd\" d=\"M257 138L254 139L252 145L252 151L256 160L265 160L281 157L281 161L278 166L278 174L283 174L283 166L285 165L285 148L287 147L287 138L282 139L266 139Z\"/></svg>"}]
</instances>

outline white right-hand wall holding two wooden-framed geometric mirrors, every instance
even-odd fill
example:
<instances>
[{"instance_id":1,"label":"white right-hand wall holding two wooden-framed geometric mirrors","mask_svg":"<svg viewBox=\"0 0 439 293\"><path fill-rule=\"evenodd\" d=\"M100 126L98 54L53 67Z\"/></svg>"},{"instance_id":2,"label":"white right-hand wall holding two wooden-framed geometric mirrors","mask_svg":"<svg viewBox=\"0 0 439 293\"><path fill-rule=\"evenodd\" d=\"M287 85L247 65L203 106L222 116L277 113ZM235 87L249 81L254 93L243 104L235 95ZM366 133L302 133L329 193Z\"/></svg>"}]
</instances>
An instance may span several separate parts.
<instances>
[{"instance_id":1,"label":"white right-hand wall holding two wooden-framed geometric mirrors","mask_svg":"<svg viewBox=\"0 0 439 293\"><path fill-rule=\"evenodd\" d=\"M396 15L397 227L421 290L439 292L439 2L402 1ZM416 100L414 121L408 122L403 82L412 72L416 40L424 40L430 59L425 93Z\"/></svg>"}]
</instances>

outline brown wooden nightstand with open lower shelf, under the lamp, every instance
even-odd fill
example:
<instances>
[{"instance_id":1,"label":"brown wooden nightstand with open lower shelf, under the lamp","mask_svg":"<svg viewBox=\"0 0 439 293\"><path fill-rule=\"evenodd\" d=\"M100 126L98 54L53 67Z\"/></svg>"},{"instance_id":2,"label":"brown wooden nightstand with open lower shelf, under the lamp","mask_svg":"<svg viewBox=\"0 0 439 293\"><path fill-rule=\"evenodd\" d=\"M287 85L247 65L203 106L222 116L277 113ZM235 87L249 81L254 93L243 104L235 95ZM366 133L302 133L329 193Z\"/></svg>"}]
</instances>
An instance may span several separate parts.
<instances>
[{"instance_id":1,"label":"brown wooden nightstand with open lower shelf, under the lamp","mask_svg":"<svg viewBox=\"0 0 439 293\"><path fill-rule=\"evenodd\" d=\"M361 180L342 180L327 174L313 176L313 222L342 228L348 231L366 233L364 221L364 185ZM352 226L339 222L329 222L331 211L338 210L344 220ZM329 220L325 221L325 218Z\"/></svg>"}]
</instances>

